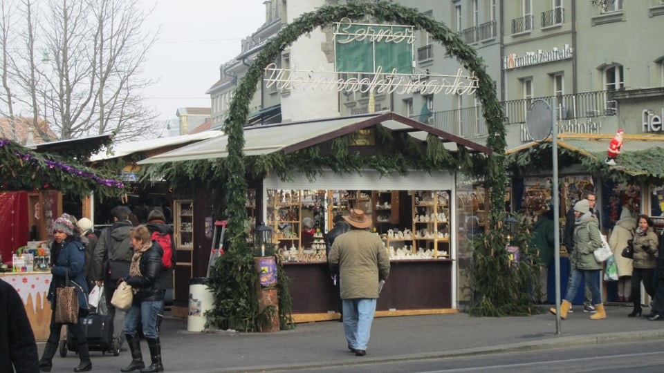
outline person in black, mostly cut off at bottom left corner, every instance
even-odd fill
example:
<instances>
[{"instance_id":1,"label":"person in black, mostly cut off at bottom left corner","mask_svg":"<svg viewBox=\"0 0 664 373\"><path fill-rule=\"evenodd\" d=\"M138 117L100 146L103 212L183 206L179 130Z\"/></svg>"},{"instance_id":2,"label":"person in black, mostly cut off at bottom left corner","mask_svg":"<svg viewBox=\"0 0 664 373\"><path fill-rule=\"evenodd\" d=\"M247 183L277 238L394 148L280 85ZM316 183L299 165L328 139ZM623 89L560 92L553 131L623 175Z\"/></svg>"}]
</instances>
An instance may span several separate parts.
<instances>
[{"instance_id":1,"label":"person in black, mostly cut off at bottom left corner","mask_svg":"<svg viewBox=\"0 0 664 373\"><path fill-rule=\"evenodd\" d=\"M1 279L0 361L10 373L39 371L39 352L26 307L16 289Z\"/></svg>"}]
</instances>

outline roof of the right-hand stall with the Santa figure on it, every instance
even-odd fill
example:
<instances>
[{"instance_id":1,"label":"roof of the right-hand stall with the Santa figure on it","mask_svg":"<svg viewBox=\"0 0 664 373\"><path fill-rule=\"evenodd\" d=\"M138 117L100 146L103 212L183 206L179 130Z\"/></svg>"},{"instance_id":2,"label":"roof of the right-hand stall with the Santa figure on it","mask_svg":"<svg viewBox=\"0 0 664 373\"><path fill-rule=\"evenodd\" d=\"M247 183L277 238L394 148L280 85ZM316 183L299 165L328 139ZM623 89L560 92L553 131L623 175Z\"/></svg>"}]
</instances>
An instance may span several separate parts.
<instances>
[{"instance_id":1,"label":"roof of the right-hand stall with the Santa figure on it","mask_svg":"<svg viewBox=\"0 0 664 373\"><path fill-rule=\"evenodd\" d=\"M581 155L597 159L601 157L603 162L607 156L609 142L615 137L613 133L561 133L557 137L558 146L562 146ZM551 142L551 138L545 140ZM506 153L517 153L530 149L539 144L530 142L508 150ZM661 159L647 151L656 149L658 152L664 149L664 135L623 135L623 148L620 151L619 170L629 175L664 175L664 163Z\"/></svg>"}]
</instances>

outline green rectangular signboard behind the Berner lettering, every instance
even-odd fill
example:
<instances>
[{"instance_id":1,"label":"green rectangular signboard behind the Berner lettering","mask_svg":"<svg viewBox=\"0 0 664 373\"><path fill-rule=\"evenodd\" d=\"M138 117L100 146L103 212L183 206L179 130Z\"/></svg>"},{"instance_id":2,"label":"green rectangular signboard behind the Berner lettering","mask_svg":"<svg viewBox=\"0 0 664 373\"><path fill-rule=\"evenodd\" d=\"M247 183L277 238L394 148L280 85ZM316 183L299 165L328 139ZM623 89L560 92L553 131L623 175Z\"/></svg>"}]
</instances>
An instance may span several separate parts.
<instances>
[{"instance_id":1,"label":"green rectangular signboard behind the Berner lettering","mask_svg":"<svg viewBox=\"0 0 664 373\"><path fill-rule=\"evenodd\" d=\"M335 70L340 73L413 73L412 26L351 23L334 30ZM380 69L379 69L380 66Z\"/></svg>"}]
</instances>

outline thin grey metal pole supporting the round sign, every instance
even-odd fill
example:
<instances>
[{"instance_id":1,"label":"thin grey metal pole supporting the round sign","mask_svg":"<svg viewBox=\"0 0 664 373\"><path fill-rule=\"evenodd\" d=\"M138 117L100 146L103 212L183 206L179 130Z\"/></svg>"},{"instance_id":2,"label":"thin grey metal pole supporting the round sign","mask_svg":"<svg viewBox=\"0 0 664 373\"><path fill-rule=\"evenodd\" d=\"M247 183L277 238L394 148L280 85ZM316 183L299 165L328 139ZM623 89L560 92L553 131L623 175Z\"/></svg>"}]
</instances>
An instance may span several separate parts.
<instances>
[{"instance_id":1,"label":"thin grey metal pole supporting the round sign","mask_svg":"<svg viewBox=\"0 0 664 373\"><path fill-rule=\"evenodd\" d=\"M553 97L555 108L556 97ZM555 111L551 110L551 137L553 149L553 261L555 263L555 334L560 334L560 201L558 197L558 126Z\"/></svg>"}]
</instances>

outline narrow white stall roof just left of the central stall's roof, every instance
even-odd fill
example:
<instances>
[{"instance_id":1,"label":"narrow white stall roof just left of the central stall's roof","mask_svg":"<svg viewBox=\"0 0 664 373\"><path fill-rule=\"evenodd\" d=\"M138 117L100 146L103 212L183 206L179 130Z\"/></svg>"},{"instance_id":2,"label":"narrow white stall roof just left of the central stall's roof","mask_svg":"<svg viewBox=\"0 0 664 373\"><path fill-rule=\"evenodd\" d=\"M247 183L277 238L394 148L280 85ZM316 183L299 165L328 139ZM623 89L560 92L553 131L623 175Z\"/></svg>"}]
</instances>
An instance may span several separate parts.
<instances>
[{"instance_id":1,"label":"narrow white stall roof just left of the central stall's roof","mask_svg":"<svg viewBox=\"0 0 664 373\"><path fill-rule=\"evenodd\" d=\"M160 137L158 139L133 142L121 142L119 144L113 144L113 148L111 149L112 151L110 154L107 154L107 151L105 150L100 151L97 154L92 155L90 160L91 162L110 160L112 158L124 157L125 155L130 155L141 151L152 151L155 149L164 148L166 146L176 146L189 144L191 142L199 142L201 140L208 140L212 137L219 137L221 135L223 135L222 131L204 131L200 133L193 133L191 135Z\"/></svg>"}]
</instances>

